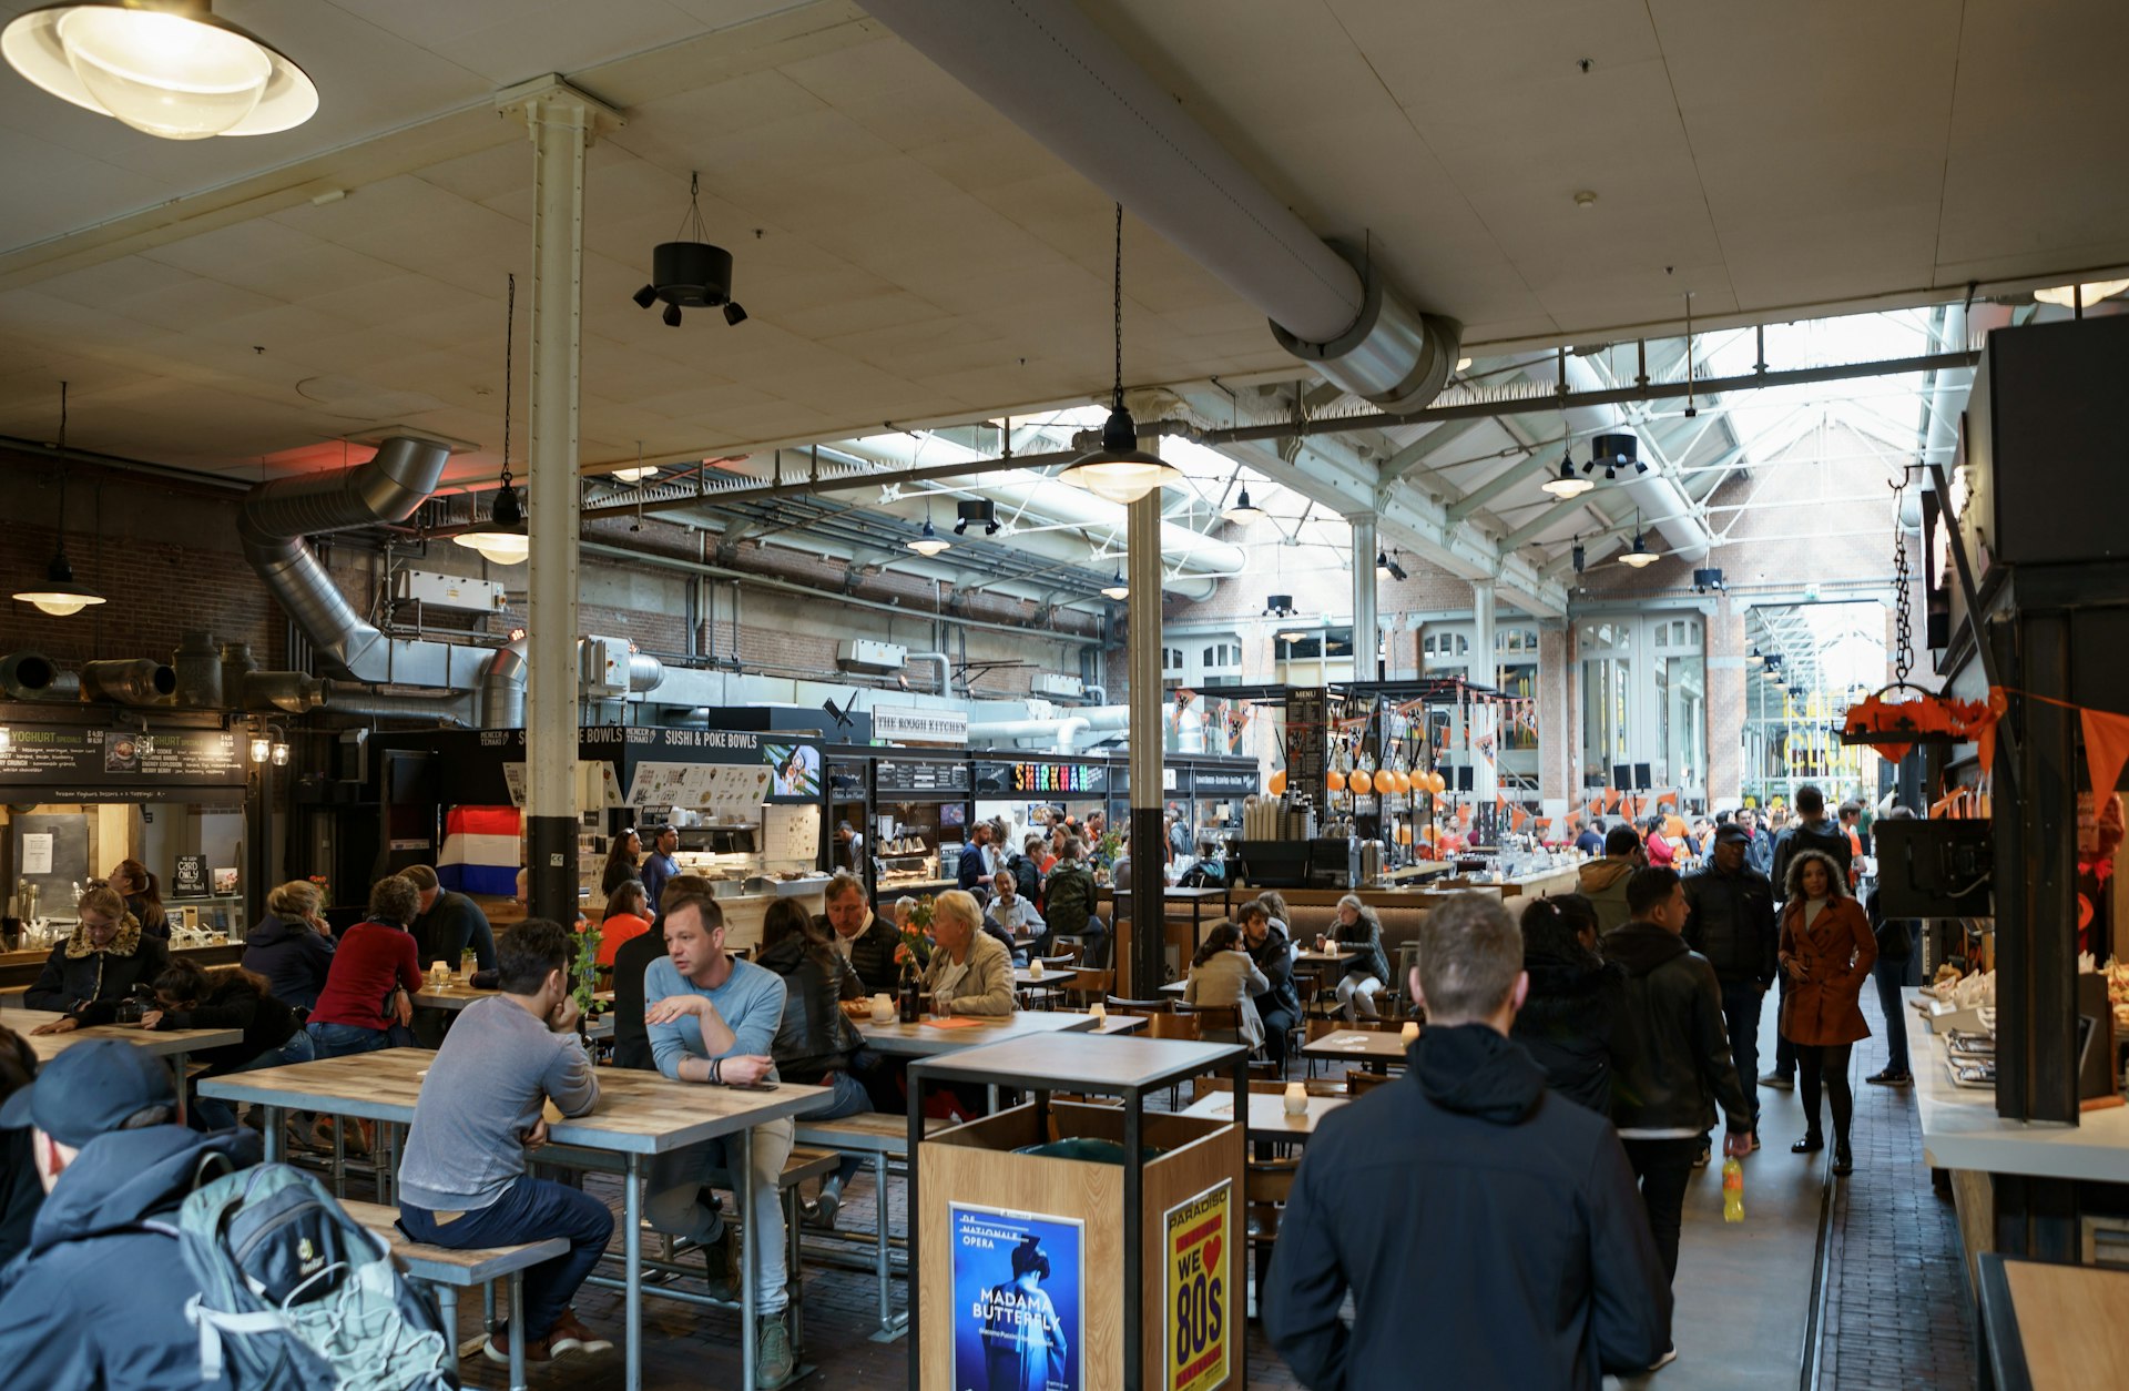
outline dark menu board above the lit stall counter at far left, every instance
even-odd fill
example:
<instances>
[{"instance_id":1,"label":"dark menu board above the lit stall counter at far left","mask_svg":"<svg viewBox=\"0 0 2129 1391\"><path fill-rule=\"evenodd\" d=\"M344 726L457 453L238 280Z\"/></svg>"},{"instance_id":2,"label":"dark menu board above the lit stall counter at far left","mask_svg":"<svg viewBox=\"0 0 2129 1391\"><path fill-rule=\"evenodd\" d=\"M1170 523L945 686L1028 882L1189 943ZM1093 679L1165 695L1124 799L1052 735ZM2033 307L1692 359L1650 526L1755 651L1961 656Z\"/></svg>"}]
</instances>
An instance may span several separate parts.
<instances>
[{"instance_id":1,"label":"dark menu board above the lit stall counter at far left","mask_svg":"<svg viewBox=\"0 0 2129 1391\"><path fill-rule=\"evenodd\" d=\"M0 750L0 786L43 801L164 801L187 788L243 786L236 735L221 729L83 729L15 724Z\"/></svg>"}]
</instances>

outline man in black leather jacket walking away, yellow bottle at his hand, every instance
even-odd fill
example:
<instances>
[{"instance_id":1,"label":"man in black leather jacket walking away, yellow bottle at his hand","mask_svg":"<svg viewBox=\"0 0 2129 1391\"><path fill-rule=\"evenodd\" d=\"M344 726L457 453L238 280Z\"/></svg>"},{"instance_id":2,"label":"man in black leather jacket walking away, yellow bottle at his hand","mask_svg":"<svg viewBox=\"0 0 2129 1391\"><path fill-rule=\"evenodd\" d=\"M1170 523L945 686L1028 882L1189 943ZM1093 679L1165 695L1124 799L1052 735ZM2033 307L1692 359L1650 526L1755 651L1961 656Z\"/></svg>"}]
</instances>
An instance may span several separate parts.
<instances>
[{"instance_id":1,"label":"man in black leather jacket walking away, yellow bottle at his hand","mask_svg":"<svg viewBox=\"0 0 2129 1391\"><path fill-rule=\"evenodd\" d=\"M1637 869L1627 882L1633 918L1605 933L1603 954L1627 967L1622 1035L1616 1059L1612 1125L1641 1182L1648 1225L1663 1270L1678 1276L1678 1223L1701 1135L1714 1129L1716 1101L1729 1120L1727 1155L1752 1148L1752 1103L1737 1082L1722 1031L1722 988L1707 959L1686 946L1686 890L1671 869Z\"/></svg>"}]
</instances>

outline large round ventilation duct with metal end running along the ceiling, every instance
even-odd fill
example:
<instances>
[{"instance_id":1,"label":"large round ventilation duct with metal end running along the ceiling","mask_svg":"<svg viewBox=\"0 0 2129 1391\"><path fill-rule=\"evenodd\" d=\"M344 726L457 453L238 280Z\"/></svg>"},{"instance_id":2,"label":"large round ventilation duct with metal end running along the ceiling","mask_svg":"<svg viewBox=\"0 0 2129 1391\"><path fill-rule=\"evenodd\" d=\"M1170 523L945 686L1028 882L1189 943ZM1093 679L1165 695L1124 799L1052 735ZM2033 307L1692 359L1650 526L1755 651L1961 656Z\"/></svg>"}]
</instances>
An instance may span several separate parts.
<instances>
[{"instance_id":1,"label":"large round ventilation duct with metal end running along the ceiling","mask_svg":"<svg viewBox=\"0 0 2129 1391\"><path fill-rule=\"evenodd\" d=\"M1324 379L1388 411L1441 392L1460 326L1356 271L1071 0L864 9L1256 305Z\"/></svg>"}]
</instances>

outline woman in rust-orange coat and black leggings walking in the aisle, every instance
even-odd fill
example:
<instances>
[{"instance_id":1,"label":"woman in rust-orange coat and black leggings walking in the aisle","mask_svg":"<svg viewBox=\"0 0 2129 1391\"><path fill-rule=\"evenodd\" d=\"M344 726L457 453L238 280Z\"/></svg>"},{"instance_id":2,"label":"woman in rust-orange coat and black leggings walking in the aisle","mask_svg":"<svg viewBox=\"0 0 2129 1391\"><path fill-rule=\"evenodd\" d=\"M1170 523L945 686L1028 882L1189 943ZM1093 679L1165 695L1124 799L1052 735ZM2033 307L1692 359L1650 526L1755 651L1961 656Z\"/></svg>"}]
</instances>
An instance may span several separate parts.
<instances>
[{"instance_id":1,"label":"woman in rust-orange coat and black leggings walking in the aisle","mask_svg":"<svg viewBox=\"0 0 2129 1391\"><path fill-rule=\"evenodd\" d=\"M1816 850L1788 861L1788 905L1782 910L1788 1001L1782 1008L1782 1037L1797 1046L1805 1118L1803 1140L1788 1148L1797 1155L1827 1148L1818 1129L1818 1086L1825 1080L1833 1108L1835 1174L1854 1169L1848 1150L1848 1120L1854 1114L1848 1052L1856 1040L1869 1037L1856 1001L1876 961L1878 937L1848 897L1848 875Z\"/></svg>"}]
</instances>

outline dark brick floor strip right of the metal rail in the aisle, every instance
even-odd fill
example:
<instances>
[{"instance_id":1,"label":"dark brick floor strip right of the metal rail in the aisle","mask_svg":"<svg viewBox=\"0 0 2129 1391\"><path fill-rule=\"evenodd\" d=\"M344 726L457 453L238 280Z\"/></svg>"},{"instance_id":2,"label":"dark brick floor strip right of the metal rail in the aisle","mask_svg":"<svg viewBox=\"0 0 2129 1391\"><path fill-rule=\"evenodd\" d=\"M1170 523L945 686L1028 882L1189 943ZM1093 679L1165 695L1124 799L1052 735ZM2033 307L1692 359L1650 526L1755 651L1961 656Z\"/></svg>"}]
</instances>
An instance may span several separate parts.
<instances>
[{"instance_id":1,"label":"dark brick floor strip right of the metal rail in the aisle","mask_svg":"<svg viewBox=\"0 0 2129 1391\"><path fill-rule=\"evenodd\" d=\"M1976 1346L1959 1216L1929 1182L1914 1091L1863 1082L1886 1063L1886 1020L1867 984L1863 1010L1871 1037L1854 1050L1856 1169L1835 1180L1818 1387L1965 1391Z\"/></svg>"}]
</instances>

